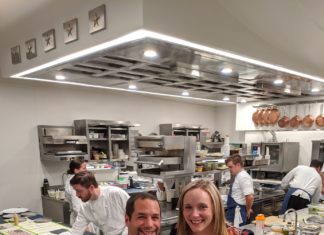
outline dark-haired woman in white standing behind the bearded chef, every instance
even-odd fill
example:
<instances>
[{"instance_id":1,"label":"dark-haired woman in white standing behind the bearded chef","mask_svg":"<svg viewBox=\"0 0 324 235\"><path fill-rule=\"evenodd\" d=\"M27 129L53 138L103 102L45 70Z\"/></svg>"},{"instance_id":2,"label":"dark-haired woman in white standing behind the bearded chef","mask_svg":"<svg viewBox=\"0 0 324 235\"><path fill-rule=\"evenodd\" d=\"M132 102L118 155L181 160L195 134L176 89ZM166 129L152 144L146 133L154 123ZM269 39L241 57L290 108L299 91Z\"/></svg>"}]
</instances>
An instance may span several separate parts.
<instances>
[{"instance_id":1,"label":"dark-haired woman in white standing behind the bearded chef","mask_svg":"<svg viewBox=\"0 0 324 235\"><path fill-rule=\"evenodd\" d=\"M70 180L75 174L86 170L86 163L83 160L74 159L70 162L69 170L67 171L68 177L65 182L65 198L70 204L70 225L73 225L82 203L81 199L77 197L75 190L70 185Z\"/></svg>"}]
</instances>

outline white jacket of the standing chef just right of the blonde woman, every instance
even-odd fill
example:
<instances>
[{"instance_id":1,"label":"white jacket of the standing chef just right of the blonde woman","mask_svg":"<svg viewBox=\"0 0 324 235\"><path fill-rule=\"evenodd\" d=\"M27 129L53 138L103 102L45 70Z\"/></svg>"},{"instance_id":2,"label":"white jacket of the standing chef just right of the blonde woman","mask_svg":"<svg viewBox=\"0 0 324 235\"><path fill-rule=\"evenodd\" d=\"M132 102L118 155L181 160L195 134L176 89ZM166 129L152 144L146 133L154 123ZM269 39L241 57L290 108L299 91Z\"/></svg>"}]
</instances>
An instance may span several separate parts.
<instances>
[{"instance_id":1,"label":"white jacket of the standing chef just right of the blonde woman","mask_svg":"<svg viewBox=\"0 0 324 235\"><path fill-rule=\"evenodd\" d=\"M246 205L245 196L250 194L254 194L253 181L251 176L242 170L235 176L231 196L236 203Z\"/></svg>"}]
</instances>

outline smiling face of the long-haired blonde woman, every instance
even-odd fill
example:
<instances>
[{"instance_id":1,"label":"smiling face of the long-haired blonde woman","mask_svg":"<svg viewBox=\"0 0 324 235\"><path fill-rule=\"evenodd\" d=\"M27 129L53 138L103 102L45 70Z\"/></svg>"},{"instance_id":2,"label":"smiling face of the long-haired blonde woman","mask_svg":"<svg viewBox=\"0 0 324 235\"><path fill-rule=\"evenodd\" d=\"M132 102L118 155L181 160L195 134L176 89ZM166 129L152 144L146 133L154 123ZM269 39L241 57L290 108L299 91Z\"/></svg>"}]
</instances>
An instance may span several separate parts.
<instances>
[{"instance_id":1,"label":"smiling face of the long-haired blonde woman","mask_svg":"<svg viewBox=\"0 0 324 235\"><path fill-rule=\"evenodd\" d=\"M213 231L213 206L209 194L199 188L188 191L183 200L183 217L193 234Z\"/></svg>"}]
</instances>

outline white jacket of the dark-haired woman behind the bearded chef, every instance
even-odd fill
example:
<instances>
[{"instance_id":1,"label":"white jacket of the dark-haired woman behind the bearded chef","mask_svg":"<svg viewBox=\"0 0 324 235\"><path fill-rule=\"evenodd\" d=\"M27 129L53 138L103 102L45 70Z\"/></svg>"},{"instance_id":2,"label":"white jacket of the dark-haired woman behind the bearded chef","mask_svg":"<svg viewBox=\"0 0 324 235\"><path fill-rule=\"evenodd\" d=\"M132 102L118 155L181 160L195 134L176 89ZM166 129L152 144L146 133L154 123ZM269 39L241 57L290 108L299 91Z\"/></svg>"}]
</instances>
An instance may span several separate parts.
<instances>
[{"instance_id":1,"label":"white jacket of the dark-haired woman behind the bearded chef","mask_svg":"<svg viewBox=\"0 0 324 235\"><path fill-rule=\"evenodd\" d=\"M75 190L73 189L73 187L70 184L70 180L73 178L74 175L68 175L68 178L65 181L65 187L64 187L64 191L65 191L65 199L68 201L68 203L70 204L70 225L72 226L77 215L78 212L80 210L82 201L80 198L77 197Z\"/></svg>"}]
</instances>

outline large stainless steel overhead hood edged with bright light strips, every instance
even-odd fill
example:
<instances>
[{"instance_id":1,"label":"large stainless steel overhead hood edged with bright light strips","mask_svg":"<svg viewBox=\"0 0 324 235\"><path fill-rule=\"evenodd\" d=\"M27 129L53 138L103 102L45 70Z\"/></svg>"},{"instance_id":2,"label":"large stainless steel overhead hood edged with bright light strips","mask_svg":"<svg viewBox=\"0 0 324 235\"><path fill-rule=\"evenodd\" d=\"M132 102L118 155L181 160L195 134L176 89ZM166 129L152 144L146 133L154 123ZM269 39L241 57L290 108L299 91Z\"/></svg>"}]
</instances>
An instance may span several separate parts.
<instances>
[{"instance_id":1,"label":"large stainless steel overhead hood edged with bright light strips","mask_svg":"<svg viewBox=\"0 0 324 235\"><path fill-rule=\"evenodd\" d=\"M129 91L132 84L133 92L179 98L186 91L186 98L223 102L227 96L227 103L324 95L319 77L146 30L130 35L12 77L119 91ZM147 50L156 56L145 56ZM224 68L232 72L224 74ZM57 75L66 80L57 81ZM283 85L274 85L278 78ZM282 86L300 92L284 92ZM320 90L316 94L314 86Z\"/></svg>"}]
</instances>

